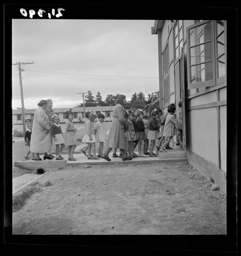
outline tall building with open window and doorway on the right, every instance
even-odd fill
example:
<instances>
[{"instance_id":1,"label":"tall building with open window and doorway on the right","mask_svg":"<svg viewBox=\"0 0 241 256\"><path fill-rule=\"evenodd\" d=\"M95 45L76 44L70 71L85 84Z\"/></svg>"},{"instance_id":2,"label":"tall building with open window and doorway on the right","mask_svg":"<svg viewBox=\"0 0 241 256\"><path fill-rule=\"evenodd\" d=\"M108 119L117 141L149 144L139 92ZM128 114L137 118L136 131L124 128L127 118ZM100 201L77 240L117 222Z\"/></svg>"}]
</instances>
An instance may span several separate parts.
<instances>
[{"instance_id":1,"label":"tall building with open window and doorway on the right","mask_svg":"<svg viewBox=\"0 0 241 256\"><path fill-rule=\"evenodd\" d=\"M226 25L226 20L155 20L151 28L158 36L160 108L165 112L182 101L188 162L225 193Z\"/></svg>"}]
</instances>

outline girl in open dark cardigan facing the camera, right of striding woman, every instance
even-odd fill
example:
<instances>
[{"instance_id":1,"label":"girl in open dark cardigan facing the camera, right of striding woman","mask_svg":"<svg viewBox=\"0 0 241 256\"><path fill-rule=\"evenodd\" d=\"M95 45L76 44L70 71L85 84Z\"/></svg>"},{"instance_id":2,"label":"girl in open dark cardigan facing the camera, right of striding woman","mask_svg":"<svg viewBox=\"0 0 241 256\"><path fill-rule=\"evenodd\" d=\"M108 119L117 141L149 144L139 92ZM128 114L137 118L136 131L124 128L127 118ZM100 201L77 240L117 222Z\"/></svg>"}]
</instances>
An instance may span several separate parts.
<instances>
[{"instance_id":1,"label":"girl in open dark cardigan facing the camera, right of striding woman","mask_svg":"<svg viewBox=\"0 0 241 256\"><path fill-rule=\"evenodd\" d=\"M144 125L143 118L144 114L143 111L138 109L137 112L137 119L136 119L136 139L138 139L138 157L148 157L148 155L144 154L144 148L145 148L145 128L147 128L147 125Z\"/></svg>"}]
</instances>

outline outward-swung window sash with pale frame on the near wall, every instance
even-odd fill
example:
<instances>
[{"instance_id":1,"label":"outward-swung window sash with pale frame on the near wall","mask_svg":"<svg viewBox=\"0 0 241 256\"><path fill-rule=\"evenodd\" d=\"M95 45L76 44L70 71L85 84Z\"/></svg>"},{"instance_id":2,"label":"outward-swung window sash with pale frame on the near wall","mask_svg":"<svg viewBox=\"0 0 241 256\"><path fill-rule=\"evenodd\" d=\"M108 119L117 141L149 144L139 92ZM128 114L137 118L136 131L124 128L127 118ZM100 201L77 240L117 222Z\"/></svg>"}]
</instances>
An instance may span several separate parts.
<instances>
[{"instance_id":1,"label":"outward-swung window sash with pale frame on the near wall","mask_svg":"<svg viewBox=\"0 0 241 256\"><path fill-rule=\"evenodd\" d=\"M197 45L193 45L190 46L190 38L189 38L189 30L190 29L194 29L195 27L199 27L205 23L211 23L211 56L212 56L212 60L211 60L211 71L212 71L212 75L213 75L213 79L208 80L208 81L203 81L203 82L197 82L197 83L190 83L191 82L191 77L190 77L190 67L191 66L198 66L201 65L202 62L197 63L197 64L193 64L190 65L191 61L190 61L190 49L193 47L197 47ZM188 26L186 28L186 35L187 35L187 89L195 89L195 88L201 88L201 87L212 87L215 86L215 80L216 80L216 72L215 72L215 46L214 46L214 20L203 20L202 22L199 23L195 23L194 25ZM196 35L195 35L196 36Z\"/></svg>"}]
</instances>

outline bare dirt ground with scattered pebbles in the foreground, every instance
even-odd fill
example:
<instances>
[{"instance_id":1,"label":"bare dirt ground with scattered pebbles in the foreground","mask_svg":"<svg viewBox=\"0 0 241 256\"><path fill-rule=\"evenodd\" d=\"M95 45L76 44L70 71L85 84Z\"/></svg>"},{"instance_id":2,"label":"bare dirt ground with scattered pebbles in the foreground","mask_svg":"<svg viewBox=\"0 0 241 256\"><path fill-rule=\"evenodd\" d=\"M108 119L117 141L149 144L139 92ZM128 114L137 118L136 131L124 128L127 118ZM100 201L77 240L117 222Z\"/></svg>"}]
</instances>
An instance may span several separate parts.
<instances>
[{"instance_id":1,"label":"bare dirt ground with scattered pebbles in the foreground","mask_svg":"<svg viewBox=\"0 0 241 256\"><path fill-rule=\"evenodd\" d=\"M12 234L226 234L225 193L187 162L51 169L33 185Z\"/></svg>"}]
</instances>

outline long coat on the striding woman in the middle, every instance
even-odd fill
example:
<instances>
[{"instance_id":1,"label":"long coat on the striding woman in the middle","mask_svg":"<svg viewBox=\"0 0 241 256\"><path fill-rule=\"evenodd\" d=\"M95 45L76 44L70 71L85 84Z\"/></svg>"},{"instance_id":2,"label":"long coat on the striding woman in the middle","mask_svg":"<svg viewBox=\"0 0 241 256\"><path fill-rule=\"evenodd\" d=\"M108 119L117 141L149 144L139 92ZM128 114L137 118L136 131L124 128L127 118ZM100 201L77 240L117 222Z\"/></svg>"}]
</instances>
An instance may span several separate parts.
<instances>
[{"instance_id":1,"label":"long coat on the striding woman in the middle","mask_svg":"<svg viewBox=\"0 0 241 256\"><path fill-rule=\"evenodd\" d=\"M125 120L125 108L117 103L113 109L113 120L110 125L110 131L107 139L107 146L110 148L125 149L124 125L127 125Z\"/></svg>"}]
</instances>

